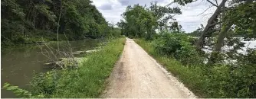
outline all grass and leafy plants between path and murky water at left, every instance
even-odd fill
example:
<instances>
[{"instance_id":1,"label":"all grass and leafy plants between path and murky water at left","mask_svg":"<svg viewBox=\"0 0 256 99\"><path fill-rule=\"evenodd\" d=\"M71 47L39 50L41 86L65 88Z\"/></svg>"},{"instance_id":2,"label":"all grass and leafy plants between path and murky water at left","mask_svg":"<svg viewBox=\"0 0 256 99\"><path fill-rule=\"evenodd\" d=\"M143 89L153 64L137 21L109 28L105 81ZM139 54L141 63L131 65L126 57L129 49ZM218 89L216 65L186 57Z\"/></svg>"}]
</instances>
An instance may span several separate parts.
<instances>
[{"instance_id":1,"label":"all grass and leafy plants between path and murky water at left","mask_svg":"<svg viewBox=\"0 0 256 99\"><path fill-rule=\"evenodd\" d=\"M77 69L39 73L31 81L31 91L5 83L4 88L19 97L99 97L105 80L123 51L125 38L113 39L99 52L86 57Z\"/></svg>"}]
</instances>

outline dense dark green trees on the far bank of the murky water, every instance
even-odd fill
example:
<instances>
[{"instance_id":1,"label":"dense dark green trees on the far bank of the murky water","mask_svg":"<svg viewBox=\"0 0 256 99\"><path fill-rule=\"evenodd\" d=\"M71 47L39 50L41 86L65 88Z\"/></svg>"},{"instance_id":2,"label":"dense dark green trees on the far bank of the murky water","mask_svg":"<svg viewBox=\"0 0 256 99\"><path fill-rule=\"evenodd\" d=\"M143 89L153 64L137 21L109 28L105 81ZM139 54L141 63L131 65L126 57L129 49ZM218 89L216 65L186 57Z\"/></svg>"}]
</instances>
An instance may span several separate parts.
<instances>
[{"instance_id":1,"label":"dense dark green trees on the far bank of the murky water","mask_svg":"<svg viewBox=\"0 0 256 99\"><path fill-rule=\"evenodd\" d=\"M3 0L2 45L47 40L108 37L113 34L103 15L90 0Z\"/></svg>"}]
</instances>

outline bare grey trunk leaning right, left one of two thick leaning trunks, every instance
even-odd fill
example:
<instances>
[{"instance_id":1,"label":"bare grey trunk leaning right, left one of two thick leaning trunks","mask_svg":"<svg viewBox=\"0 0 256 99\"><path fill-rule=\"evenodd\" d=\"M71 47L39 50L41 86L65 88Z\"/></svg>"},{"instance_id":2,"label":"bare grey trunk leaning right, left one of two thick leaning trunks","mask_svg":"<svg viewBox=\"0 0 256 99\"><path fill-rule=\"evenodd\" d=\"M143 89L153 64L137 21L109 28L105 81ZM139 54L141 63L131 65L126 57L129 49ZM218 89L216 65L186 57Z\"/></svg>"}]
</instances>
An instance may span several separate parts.
<instances>
[{"instance_id":1,"label":"bare grey trunk leaning right, left one of two thick leaning trunks","mask_svg":"<svg viewBox=\"0 0 256 99\"><path fill-rule=\"evenodd\" d=\"M223 0L222 3L218 6L218 8L215 10L214 14L212 14L212 17L208 19L208 23L206 24L205 29L202 31L202 34L196 43L198 49L202 48L202 43L205 40L205 36L209 27L212 26L212 24L214 24L213 21L218 17L218 14L220 14L220 12L222 11L222 7L225 6L225 2L227 2L227 0Z\"/></svg>"}]
</instances>

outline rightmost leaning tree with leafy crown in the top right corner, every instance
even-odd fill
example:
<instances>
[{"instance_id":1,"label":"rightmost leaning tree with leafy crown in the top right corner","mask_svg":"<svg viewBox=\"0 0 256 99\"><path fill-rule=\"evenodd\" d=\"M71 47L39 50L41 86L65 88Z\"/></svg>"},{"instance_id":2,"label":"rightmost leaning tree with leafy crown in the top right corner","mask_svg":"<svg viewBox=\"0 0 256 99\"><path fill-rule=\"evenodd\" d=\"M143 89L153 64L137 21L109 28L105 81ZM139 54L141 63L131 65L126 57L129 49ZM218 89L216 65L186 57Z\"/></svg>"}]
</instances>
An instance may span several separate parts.
<instances>
[{"instance_id":1,"label":"rightmost leaning tree with leafy crown in the top right corner","mask_svg":"<svg viewBox=\"0 0 256 99\"><path fill-rule=\"evenodd\" d=\"M228 30L231 28L231 26L234 26L234 34L240 34L241 37L245 38L255 38L255 24L256 24L256 11L254 10L256 8L256 3L252 3L252 1L247 2L238 2L235 6L231 6L227 9L227 12L225 14L225 21L223 21L223 26L221 32L218 34L218 39L215 44L215 48L212 53L212 58L215 62L215 59L218 58L218 54L220 53L222 46L224 46L225 43L225 37L227 37ZM229 34L231 35L231 34ZM229 37L228 40L232 40L232 38ZM237 43L240 43L237 42ZM238 44L240 45L240 44ZM232 44L234 46L234 44ZM243 44L244 46L244 44ZM241 47L241 46L240 46ZM239 47L239 48L240 48Z\"/></svg>"}]
</instances>

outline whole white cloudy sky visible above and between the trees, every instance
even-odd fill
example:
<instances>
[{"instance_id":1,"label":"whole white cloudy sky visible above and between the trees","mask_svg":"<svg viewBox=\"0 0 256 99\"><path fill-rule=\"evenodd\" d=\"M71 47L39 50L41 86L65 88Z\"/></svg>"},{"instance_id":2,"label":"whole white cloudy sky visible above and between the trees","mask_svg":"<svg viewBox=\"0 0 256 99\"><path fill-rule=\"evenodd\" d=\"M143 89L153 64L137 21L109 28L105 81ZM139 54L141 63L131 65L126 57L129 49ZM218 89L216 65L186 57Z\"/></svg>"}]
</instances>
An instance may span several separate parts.
<instances>
[{"instance_id":1,"label":"whole white cloudy sky visible above and between the trees","mask_svg":"<svg viewBox=\"0 0 256 99\"><path fill-rule=\"evenodd\" d=\"M121 14L126 10L127 5L150 5L150 2L157 1L159 5L168 5L173 0L92 0L93 5L103 14L111 24L117 24L122 19ZM219 1L219 0L218 0ZM218 2L219 3L219 2ZM180 6L176 4L170 7L180 7L182 14L176 15L176 21L182 25L182 30L189 33L196 30L200 24L207 24L216 7L208 8L211 4L205 0L197 0L189 5ZM207 11L205 11L208 9Z\"/></svg>"}]
</instances>

